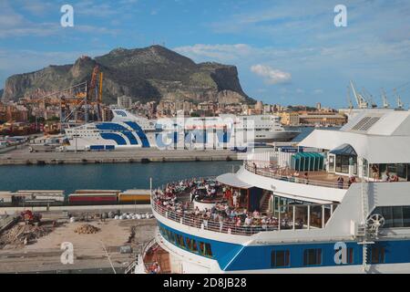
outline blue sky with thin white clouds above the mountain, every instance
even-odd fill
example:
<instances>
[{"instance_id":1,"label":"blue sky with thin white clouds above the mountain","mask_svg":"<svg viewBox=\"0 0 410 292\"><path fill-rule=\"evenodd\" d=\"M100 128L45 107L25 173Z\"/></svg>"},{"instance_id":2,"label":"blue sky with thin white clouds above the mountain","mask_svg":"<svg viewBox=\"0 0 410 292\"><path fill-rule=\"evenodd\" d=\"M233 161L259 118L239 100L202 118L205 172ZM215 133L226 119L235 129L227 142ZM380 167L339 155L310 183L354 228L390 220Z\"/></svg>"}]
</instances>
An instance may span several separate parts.
<instances>
[{"instance_id":1,"label":"blue sky with thin white clouds above the mountain","mask_svg":"<svg viewBox=\"0 0 410 292\"><path fill-rule=\"evenodd\" d=\"M60 26L65 4L74 27ZM346 27L333 25L338 4ZM154 43L237 66L267 103L345 107L350 79L379 104L382 88L410 102L408 0L0 0L0 89L12 74Z\"/></svg>"}]
</instances>

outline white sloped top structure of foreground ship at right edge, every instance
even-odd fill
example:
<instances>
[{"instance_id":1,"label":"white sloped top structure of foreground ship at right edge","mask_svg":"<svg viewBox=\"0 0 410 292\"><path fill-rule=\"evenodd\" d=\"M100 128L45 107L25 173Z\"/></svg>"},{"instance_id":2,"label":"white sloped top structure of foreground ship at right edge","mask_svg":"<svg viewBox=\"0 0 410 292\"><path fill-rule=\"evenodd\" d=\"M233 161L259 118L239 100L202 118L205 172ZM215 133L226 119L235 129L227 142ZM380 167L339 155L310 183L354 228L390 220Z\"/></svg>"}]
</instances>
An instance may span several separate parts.
<instances>
[{"instance_id":1,"label":"white sloped top structure of foreground ship at right edge","mask_svg":"<svg viewBox=\"0 0 410 292\"><path fill-rule=\"evenodd\" d=\"M351 156L363 157L370 163L409 163L408 145L410 145L409 110L363 110L349 120L342 129L313 130L299 143L299 146L340 151L340 153L354 151L356 154Z\"/></svg>"}]
</instances>

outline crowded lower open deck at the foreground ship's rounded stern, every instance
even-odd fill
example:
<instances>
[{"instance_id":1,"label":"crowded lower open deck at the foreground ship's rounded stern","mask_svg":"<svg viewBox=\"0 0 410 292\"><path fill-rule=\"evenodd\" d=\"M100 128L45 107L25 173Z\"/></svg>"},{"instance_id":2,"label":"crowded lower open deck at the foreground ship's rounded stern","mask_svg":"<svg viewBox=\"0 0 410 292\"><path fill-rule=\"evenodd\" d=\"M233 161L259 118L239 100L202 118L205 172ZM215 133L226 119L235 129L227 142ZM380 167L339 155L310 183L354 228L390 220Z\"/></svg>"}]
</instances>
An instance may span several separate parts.
<instances>
[{"instance_id":1,"label":"crowded lower open deck at the foreground ship's rounded stern","mask_svg":"<svg viewBox=\"0 0 410 292\"><path fill-rule=\"evenodd\" d=\"M250 189L257 188L191 179L154 191L151 203L157 214L171 221L231 235L323 228L338 204L303 204L297 200L275 203L271 193ZM254 200L255 196L259 200Z\"/></svg>"}]
</instances>

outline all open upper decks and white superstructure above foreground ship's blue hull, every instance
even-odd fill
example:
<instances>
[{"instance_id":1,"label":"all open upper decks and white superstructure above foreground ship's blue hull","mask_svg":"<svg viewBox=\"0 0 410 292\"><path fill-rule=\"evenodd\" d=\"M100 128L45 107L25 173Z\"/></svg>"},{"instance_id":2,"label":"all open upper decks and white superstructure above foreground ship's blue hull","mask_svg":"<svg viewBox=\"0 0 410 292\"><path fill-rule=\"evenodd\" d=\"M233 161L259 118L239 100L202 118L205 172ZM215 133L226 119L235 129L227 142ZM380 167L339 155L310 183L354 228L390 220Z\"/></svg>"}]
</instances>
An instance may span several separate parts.
<instances>
[{"instance_id":1,"label":"all open upper decks and white superstructure above foreground ship's blue hull","mask_svg":"<svg viewBox=\"0 0 410 292\"><path fill-rule=\"evenodd\" d=\"M410 142L409 112L368 115L341 130L314 130L296 149L251 153L239 172L170 185L153 195L153 209L179 224L231 235L324 228L354 183L410 181L402 143Z\"/></svg>"}]
</instances>

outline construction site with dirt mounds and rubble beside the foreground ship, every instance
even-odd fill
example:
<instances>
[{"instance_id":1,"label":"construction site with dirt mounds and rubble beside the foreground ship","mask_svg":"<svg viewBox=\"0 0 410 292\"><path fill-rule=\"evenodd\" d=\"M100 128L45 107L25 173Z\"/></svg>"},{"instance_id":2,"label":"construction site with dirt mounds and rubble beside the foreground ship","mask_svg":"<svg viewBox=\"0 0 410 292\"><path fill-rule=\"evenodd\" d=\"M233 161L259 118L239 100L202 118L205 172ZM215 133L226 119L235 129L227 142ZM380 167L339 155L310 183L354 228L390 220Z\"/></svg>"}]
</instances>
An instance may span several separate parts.
<instances>
[{"instance_id":1,"label":"construction site with dirt mounds and rubble beside the foreground ship","mask_svg":"<svg viewBox=\"0 0 410 292\"><path fill-rule=\"evenodd\" d=\"M0 272L126 273L154 236L155 219L146 205L108 210L1 215ZM67 246L72 248L72 262L64 260Z\"/></svg>"}]
</instances>

